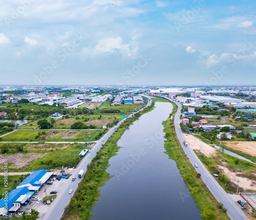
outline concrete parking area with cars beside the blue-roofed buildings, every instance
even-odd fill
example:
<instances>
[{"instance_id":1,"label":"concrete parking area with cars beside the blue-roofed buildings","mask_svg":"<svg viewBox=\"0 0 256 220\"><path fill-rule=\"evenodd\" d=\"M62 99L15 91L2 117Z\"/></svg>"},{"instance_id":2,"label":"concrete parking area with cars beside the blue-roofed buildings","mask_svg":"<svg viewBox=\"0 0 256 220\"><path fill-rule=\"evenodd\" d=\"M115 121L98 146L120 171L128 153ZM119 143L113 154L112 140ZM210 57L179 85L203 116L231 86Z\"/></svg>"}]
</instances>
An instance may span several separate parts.
<instances>
[{"instance_id":1,"label":"concrete parking area with cars beside the blue-roofed buildings","mask_svg":"<svg viewBox=\"0 0 256 220\"><path fill-rule=\"evenodd\" d=\"M66 173L68 174L72 174L75 171L75 169L73 170L67 170ZM65 178L61 178L60 181L55 180L55 181L51 181L52 185L43 185L40 188L40 191L37 192L37 194L33 195L32 197L39 197L40 199L43 199L46 195L51 195L50 192L51 191L57 191L56 195L60 195L63 193L63 191L61 189L64 188L65 184L67 184L68 182L72 181L72 175L70 176L69 179L65 179ZM48 211L48 209L50 208L50 205L46 205L44 203L40 203L37 204L36 200L29 200L31 204L27 204L27 205L23 205L20 208L20 212L25 211L26 213L30 212L31 209L35 209L39 212L39 217L41 218L42 216L45 215L45 213Z\"/></svg>"}]
</instances>

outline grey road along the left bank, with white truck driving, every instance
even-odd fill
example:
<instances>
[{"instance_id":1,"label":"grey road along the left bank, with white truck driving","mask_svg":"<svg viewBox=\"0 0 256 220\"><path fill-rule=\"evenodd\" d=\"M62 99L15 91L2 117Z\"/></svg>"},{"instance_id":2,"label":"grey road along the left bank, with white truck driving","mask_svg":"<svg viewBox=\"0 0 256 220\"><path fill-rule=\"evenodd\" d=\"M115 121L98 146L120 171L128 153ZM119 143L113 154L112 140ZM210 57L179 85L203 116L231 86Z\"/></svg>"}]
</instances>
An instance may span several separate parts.
<instances>
[{"instance_id":1,"label":"grey road along the left bank, with white truck driving","mask_svg":"<svg viewBox=\"0 0 256 220\"><path fill-rule=\"evenodd\" d=\"M145 96L147 97L147 96ZM145 107L150 106L152 103L152 99L148 98L150 101L146 104ZM140 109L138 112L141 112L143 109ZM136 114L134 113L134 114ZM134 114L129 115L130 118ZM102 145L109 139L109 137L115 132L115 129L120 126L124 122L122 121L118 122L117 125L115 125L112 129L110 129L91 149L91 152L88 153L77 165L76 170L74 171L72 177L76 177L76 180L74 182L71 181L72 178L69 178L67 180L67 183L65 184L65 187L63 187L61 192L58 192L58 196L54 200L54 202L51 204L51 207L49 208L48 212L45 214L44 217L40 217L38 219L44 219L44 220L58 220L61 218L62 214L65 211L65 207L69 204L75 190L78 187L78 184L81 182L82 179L78 178L78 172L80 169L87 170L87 165L91 163L92 159L96 156L96 153L100 150ZM69 194L69 190L73 189L74 192L72 194Z\"/></svg>"}]
</instances>

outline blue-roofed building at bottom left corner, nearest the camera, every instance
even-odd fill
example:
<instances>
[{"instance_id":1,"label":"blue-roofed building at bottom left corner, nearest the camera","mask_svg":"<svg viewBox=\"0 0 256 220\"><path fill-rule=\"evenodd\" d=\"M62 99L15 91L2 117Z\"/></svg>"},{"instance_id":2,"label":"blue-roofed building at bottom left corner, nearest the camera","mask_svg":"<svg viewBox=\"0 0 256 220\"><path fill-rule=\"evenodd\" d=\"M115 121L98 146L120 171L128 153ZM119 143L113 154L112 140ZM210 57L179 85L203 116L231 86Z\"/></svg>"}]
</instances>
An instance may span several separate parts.
<instances>
[{"instance_id":1,"label":"blue-roofed building at bottom left corner, nearest the camera","mask_svg":"<svg viewBox=\"0 0 256 220\"><path fill-rule=\"evenodd\" d=\"M16 202L23 195L30 197L29 187L13 189L11 192L9 192L2 200L0 200L0 214L5 215L7 214L7 211L10 210L16 212L20 208L20 205L13 206L13 204L15 204L14 202Z\"/></svg>"}]
</instances>

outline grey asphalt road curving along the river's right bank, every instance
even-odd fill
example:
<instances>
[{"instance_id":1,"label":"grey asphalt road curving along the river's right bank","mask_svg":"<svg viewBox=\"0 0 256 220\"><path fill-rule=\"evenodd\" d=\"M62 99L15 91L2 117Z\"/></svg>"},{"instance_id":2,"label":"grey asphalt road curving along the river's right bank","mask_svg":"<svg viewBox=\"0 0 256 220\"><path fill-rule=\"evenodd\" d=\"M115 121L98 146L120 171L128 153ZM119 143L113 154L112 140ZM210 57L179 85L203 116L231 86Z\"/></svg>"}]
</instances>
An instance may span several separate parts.
<instances>
[{"instance_id":1,"label":"grey asphalt road curving along the river's right bank","mask_svg":"<svg viewBox=\"0 0 256 220\"><path fill-rule=\"evenodd\" d=\"M172 99L166 98L170 101L174 101ZM178 105L177 113L174 118L174 125L177 137L180 141L180 144L185 151L190 163L195 168L195 163L198 164L198 167L195 168L197 172L201 173L201 179L210 190L212 195L214 195L215 199L223 203L224 207L227 209L227 215L230 219L234 220L242 220L242 219L249 219L246 214L241 210L241 208L231 199L231 197L225 192L225 190L221 187L221 185L216 181L214 177L210 174L210 172L205 168L203 163L197 157L196 153L191 149L189 146L185 147L183 142L185 137L182 133L180 127L180 115L181 115L181 104L179 102L174 101Z\"/></svg>"}]
</instances>

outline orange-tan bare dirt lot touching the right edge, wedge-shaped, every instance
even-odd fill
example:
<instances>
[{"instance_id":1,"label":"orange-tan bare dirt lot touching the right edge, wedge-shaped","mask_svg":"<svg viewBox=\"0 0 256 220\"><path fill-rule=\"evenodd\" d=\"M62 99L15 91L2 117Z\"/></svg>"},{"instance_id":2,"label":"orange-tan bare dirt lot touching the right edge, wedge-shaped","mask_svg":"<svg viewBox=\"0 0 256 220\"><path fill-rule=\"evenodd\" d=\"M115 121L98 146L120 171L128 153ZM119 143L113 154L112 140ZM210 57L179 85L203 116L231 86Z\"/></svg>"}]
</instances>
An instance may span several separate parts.
<instances>
[{"instance_id":1,"label":"orange-tan bare dirt lot touching the right edge, wedge-shaped","mask_svg":"<svg viewBox=\"0 0 256 220\"><path fill-rule=\"evenodd\" d=\"M256 142L254 141L227 141L221 143L225 144L227 147L240 150L244 153L248 153L248 155L256 157Z\"/></svg>"}]
</instances>

